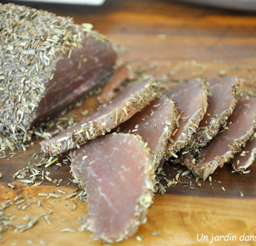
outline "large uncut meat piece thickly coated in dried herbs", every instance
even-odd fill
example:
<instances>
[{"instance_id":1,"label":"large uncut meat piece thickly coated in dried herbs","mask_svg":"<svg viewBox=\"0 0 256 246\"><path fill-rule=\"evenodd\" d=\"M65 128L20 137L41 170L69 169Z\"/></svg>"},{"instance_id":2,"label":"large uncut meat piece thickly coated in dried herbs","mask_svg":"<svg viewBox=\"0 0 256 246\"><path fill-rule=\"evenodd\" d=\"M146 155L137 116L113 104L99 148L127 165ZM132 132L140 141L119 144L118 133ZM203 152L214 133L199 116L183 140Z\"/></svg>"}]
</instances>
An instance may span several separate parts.
<instances>
[{"instance_id":1,"label":"large uncut meat piece thickly coated in dried herbs","mask_svg":"<svg viewBox=\"0 0 256 246\"><path fill-rule=\"evenodd\" d=\"M115 47L88 26L47 11L0 4L0 131L5 136L24 135L108 82Z\"/></svg>"}]
</instances>

